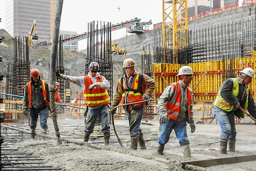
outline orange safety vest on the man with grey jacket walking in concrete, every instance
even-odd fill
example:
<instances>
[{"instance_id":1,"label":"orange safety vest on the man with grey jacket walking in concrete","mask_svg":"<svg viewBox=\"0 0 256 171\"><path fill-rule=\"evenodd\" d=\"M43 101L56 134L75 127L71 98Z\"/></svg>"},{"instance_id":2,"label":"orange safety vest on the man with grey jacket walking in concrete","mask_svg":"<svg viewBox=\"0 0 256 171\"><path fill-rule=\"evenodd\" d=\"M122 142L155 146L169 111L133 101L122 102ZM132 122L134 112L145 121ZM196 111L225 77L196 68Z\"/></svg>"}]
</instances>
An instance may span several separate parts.
<instances>
[{"instance_id":1,"label":"orange safety vest on the man with grey jacket walking in concrete","mask_svg":"<svg viewBox=\"0 0 256 171\"><path fill-rule=\"evenodd\" d=\"M180 102L181 102L181 91L180 91L180 85L179 82L175 82L170 84L174 88L174 94L173 96L165 102L166 112L168 114L168 117L177 120L179 109L180 109ZM186 95L187 95L187 113L190 115L191 111L191 102L192 102L192 91L187 86L186 87Z\"/></svg>"}]
</instances>

